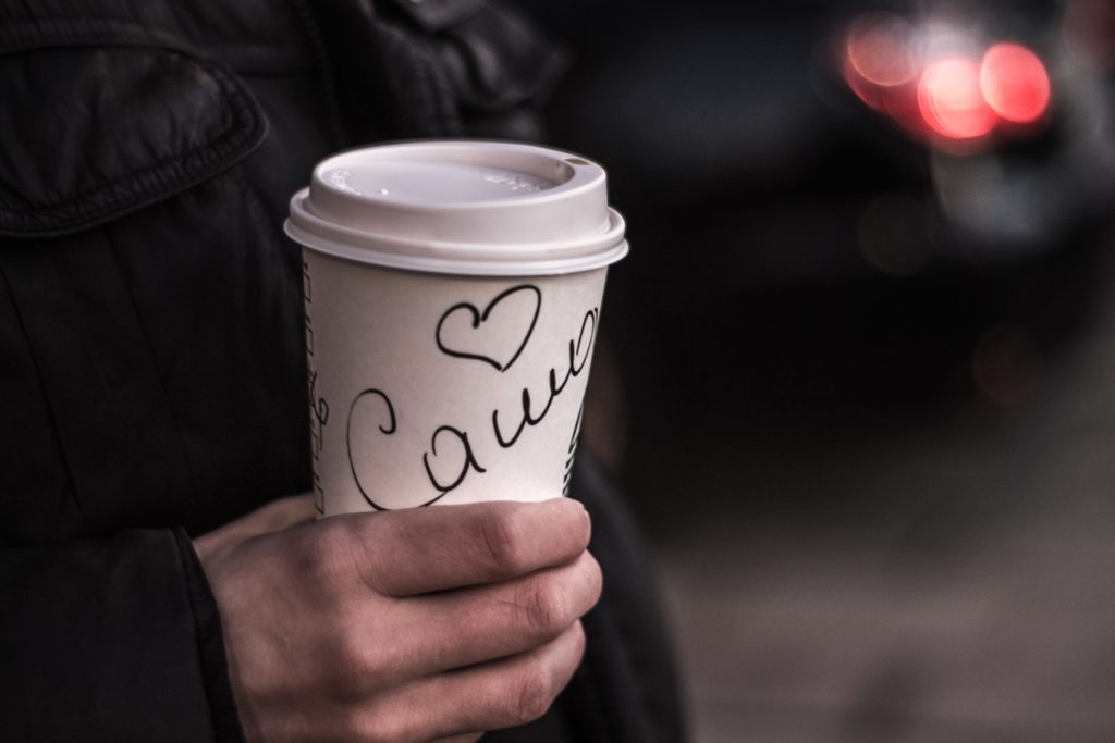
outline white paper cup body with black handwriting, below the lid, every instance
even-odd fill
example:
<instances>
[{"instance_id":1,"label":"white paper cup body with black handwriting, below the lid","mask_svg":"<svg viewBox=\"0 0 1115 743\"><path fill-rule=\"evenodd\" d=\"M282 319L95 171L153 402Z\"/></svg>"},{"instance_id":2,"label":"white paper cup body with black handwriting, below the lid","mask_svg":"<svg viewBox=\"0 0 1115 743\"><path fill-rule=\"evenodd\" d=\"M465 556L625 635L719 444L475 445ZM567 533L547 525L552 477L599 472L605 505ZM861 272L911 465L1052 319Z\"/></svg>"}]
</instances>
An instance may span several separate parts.
<instances>
[{"instance_id":1,"label":"white paper cup body with black handwriting, below the lid","mask_svg":"<svg viewBox=\"0 0 1115 743\"><path fill-rule=\"evenodd\" d=\"M607 271L454 276L304 247L319 514L564 495Z\"/></svg>"}]
</instances>

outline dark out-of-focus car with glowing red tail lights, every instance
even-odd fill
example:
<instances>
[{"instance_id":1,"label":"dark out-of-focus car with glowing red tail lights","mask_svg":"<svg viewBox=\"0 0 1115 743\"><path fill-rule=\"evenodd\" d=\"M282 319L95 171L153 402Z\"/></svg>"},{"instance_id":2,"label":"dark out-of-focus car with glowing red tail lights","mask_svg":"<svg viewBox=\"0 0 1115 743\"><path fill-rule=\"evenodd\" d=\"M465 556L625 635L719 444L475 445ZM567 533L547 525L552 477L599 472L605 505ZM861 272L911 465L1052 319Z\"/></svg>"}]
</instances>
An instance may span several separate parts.
<instances>
[{"instance_id":1,"label":"dark out-of-focus car with glowing red tail lights","mask_svg":"<svg viewBox=\"0 0 1115 743\"><path fill-rule=\"evenodd\" d=\"M552 139L629 218L604 329L644 414L1017 407L1086 322L1109 0L521 4L573 50Z\"/></svg>"}]
</instances>

